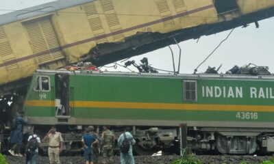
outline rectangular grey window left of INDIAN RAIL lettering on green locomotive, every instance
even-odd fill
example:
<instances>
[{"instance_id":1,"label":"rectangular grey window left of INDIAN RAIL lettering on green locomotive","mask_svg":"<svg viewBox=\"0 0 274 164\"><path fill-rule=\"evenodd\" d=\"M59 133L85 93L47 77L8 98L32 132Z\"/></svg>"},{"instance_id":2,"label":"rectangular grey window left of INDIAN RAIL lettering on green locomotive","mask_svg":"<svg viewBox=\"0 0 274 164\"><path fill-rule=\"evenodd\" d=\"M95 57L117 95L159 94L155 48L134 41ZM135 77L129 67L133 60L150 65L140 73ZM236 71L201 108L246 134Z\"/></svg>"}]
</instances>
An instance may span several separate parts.
<instances>
[{"instance_id":1,"label":"rectangular grey window left of INDIAN RAIL lettering on green locomotive","mask_svg":"<svg viewBox=\"0 0 274 164\"><path fill-rule=\"evenodd\" d=\"M184 101L197 101L197 81L184 81Z\"/></svg>"}]
</instances>

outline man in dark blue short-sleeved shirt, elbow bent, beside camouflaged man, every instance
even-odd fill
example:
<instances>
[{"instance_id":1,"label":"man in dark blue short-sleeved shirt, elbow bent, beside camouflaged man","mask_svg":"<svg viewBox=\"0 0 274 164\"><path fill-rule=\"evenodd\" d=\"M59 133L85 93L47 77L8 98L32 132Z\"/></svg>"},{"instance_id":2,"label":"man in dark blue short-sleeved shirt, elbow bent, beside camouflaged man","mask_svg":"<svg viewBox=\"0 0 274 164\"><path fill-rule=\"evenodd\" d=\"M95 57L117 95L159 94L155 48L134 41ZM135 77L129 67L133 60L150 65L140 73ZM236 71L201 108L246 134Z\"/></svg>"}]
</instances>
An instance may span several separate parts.
<instances>
[{"instance_id":1,"label":"man in dark blue short-sleeved shirt, elbow bent, beside camouflaged man","mask_svg":"<svg viewBox=\"0 0 274 164\"><path fill-rule=\"evenodd\" d=\"M93 164L93 151L92 145L97 143L98 139L96 139L93 135L90 134L89 128L86 128L85 134L82 138L82 144L84 148L84 158L86 164Z\"/></svg>"}]
</instances>

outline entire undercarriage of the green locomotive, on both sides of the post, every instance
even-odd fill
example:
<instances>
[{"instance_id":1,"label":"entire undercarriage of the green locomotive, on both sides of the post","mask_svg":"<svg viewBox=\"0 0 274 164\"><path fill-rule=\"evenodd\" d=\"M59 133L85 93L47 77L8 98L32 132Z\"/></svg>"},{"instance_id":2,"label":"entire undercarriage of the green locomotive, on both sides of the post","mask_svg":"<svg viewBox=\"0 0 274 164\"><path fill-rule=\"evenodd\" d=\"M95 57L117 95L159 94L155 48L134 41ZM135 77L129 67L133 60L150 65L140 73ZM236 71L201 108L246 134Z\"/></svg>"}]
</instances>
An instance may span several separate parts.
<instances>
[{"instance_id":1,"label":"entire undercarriage of the green locomotive, on both sides of the post","mask_svg":"<svg viewBox=\"0 0 274 164\"><path fill-rule=\"evenodd\" d=\"M36 130L42 132L49 129L47 126L36 126ZM64 152L81 152L82 133L84 126L73 128L60 125L64 138ZM24 131L33 131L34 126L25 126ZM123 127L113 126L115 141L123 133ZM69 131L69 132L68 132ZM96 131L101 135L100 126ZM267 154L274 152L273 129L234 129L234 128L200 128L195 131L188 127L187 149L198 154ZM40 137L45 135L40 133ZM132 126L132 135L136 139L135 154L150 155L159 150L163 154L179 154L180 135L177 128L140 128ZM47 152L47 143L42 143L43 152ZM119 153L119 146L115 143L114 152Z\"/></svg>"}]
</instances>

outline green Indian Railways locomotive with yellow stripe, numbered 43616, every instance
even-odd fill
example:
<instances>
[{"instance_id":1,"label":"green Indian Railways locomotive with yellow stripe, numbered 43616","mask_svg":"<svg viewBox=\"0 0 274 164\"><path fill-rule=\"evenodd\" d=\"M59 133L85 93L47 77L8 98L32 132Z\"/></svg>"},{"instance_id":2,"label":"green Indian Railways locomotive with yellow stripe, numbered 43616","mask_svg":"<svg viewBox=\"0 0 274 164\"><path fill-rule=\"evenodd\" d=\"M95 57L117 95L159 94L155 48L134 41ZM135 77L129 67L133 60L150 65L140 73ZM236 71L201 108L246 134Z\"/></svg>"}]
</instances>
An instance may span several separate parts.
<instances>
[{"instance_id":1,"label":"green Indian Railways locomotive with yellow stripe, numbered 43616","mask_svg":"<svg viewBox=\"0 0 274 164\"><path fill-rule=\"evenodd\" d=\"M243 74L147 74L37 70L23 112L25 132L57 124L64 150L79 149L84 126L132 127L135 151L179 146L223 154L274 152L274 77Z\"/></svg>"}]
</instances>

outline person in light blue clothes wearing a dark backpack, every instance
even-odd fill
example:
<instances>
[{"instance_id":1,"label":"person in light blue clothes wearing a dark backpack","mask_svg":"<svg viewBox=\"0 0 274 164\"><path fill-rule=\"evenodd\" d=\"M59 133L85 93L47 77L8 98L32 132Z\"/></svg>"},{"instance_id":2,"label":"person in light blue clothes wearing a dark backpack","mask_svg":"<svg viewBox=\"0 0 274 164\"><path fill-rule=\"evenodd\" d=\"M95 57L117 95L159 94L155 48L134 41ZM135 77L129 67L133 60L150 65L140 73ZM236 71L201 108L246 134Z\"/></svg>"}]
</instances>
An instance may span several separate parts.
<instances>
[{"instance_id":1,"label":"person in light blue clothes wearing a dark backpack","mask_svg":"<svg viewBox=\"0 0 274 164\"><path fill-rule=\"evenodd\" d=\"M118 139L118 145L121 149L121 164L125 164L125 159L128 156L129 164L134 164L134 157L132 154L132 146L136 143L135 139L132 137L132 134L129 133L130 128L125 128L125 133L121 134Z\"/></svg>"}]
</instances>

